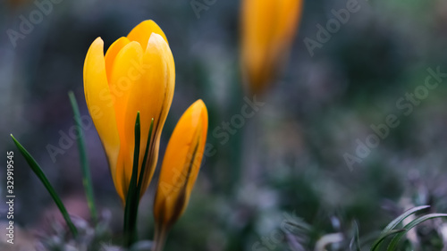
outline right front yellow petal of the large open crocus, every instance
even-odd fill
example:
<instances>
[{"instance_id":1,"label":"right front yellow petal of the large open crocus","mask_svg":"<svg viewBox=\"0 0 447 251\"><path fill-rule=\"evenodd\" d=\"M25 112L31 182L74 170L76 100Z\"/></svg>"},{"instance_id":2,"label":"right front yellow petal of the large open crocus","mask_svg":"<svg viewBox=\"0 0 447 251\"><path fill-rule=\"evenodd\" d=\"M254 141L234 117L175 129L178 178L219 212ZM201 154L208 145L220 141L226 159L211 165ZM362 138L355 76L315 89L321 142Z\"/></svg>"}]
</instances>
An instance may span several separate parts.
<instances>
[{"instance_id":1,"label":"right front yellow petal of the large open crocus","mask_svg":"<svg viewBox=\"0 0 447 251\"><path fill-rule=\"evenodd\" d=\"M164 38L156 33L148 41L148 49L143 56L141 81L136 81L130 91L125 115L125 134L129 144L129 155L133 162L134 149L134 127L137 112L141 120L141 145L139 153L139 165L143 162L148 132L151 120L154 119L154 129L151 146L148 151L148 164L143 177L142 191L148 188L152 179L158 159L158 148L160 136L164 127L167 113L173 102L173 91L175 85L175 66L171 49ZM140 171L140 167L139 167ZM131 179L131 168L125 169L126 180ZM126 183L129 186L129 183ZM141 192L141 196L143 192Z\"/></svg>"}]
</instances>

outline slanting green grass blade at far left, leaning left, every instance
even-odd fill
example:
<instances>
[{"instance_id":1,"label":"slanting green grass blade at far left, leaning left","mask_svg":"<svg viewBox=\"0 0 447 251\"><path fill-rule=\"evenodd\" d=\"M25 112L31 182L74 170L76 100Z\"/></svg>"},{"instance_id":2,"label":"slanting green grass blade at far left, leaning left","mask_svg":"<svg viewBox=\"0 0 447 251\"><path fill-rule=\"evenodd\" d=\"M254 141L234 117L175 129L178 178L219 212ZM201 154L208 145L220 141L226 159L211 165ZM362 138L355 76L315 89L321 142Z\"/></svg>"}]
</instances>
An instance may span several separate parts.
<instances>
[{"instance_id":1,"label":"slanting green grass blade at far left, leaning left","mask_svg":"<svg viewBox=\"0 0 447 251\"><path fill-rule=\"evenodd\" d=\"M42 181L42 184L44 185L44 187L46 188L46 190L48 191L50 196L55 201L57 208L59 208L59 211L61 211L61 213L63 215L63 219L65 220L65 222L67 222L68 228L72 231L73 237L76 238L78 236L78 230L74 226L72 219L70 219L70 216L68 215L67 209L63 205L61 198L55 192L55 188L53 188L53 186L51 186L48 179L46 179L45 173L42 171L42 169L40 168L40 166L38 165L36 160L34 160L34 158L30 155L30 153L25 149L25 147L21 146L21 143L19 143L19 141L17 141L17 139L15 139L13 137L13 134L11 134L11 137L13 138L15 146L17 146L17 148L21 152L21 155L23 155L23 157L25 158L27 163L30 165L31 170L34 173L36 173L36 175L38 176L38 179L40 181Z\"/></svg>"}]
</instances>

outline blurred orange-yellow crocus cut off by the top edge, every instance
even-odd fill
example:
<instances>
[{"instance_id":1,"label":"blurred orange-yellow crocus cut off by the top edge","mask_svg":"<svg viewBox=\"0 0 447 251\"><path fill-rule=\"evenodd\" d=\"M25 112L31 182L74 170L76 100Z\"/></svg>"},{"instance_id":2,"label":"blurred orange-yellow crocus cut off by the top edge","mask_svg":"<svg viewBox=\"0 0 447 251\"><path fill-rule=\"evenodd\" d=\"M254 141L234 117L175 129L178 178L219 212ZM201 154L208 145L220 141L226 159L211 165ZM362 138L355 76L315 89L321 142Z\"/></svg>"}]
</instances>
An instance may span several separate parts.
<instances>
[{"instance_id":1,"label":"blurred orange-yellow crocus cut off by the top edge","mask_svg":"<svg viewBox=\"0 0 447 251\"><path fill-rule=\"evenodd\" d=\"M251 94L274 80L298 31L302 0L243 0L241 66Z\"/></svg>"}]
</instances>

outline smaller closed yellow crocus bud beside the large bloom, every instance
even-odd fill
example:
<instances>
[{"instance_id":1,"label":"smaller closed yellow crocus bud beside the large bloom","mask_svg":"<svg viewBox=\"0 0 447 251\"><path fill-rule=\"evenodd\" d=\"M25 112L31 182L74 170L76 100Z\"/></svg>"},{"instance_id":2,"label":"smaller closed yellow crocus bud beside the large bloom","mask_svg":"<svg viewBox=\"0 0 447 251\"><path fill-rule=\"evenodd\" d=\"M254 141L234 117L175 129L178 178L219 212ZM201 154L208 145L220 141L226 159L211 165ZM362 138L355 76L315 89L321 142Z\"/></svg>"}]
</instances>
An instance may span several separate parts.
<instances>
[{"instance_id":1,"label":"smaller closed yellow crocus bud beside the large bloom","mask_svg":"<svg viewBox=\"0 0 447 251\"><path fill-rule=\"evenodd\" d=\"M208 114L202 100L181 116L169 140L154 204L157 225L170 228L185 210L207 141Z\"/></svg>"}]
</instances>

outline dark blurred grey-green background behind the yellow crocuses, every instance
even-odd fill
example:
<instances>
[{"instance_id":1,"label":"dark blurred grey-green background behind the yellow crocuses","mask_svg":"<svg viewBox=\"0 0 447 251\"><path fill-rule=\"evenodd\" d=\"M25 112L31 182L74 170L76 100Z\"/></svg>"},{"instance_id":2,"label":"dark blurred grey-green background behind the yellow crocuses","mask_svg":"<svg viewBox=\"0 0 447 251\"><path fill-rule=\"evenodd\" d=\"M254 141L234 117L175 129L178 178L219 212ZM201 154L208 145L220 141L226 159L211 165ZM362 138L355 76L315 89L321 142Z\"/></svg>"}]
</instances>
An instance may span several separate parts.
<instances>
[{"instance_id":1,"label":"dark blurred grey-green background behind the yellow crocuses","mask_svg":"<svg viewBox=\"0 0 447 251\"><path fill-rule=\"evenodd\" d=\"M207 142L214 146L166 250L301 250L293 246L296 241L310 250L329 233L342 232L349 243L354 221L360 238L367 238L409 206L433 205L432 211L446 213L447 78L409 115L396 102L424 84L428 68L447 72L447 2L358 0L358 13L311 56L304 39L316 39L316 25L325 26L331 11L348 2L306 1L287 67L264 96L257 96L266 105L221 144L213 130L244 105L240 1L216 0L198 18L189 0L62 0L15 47L6 30L18 31L21 15L28 19L38 7L30 0L1 1L0 147L4 162L5 151L15 153L16 250L34 250L38 234L50 232L50 222L61 217L9 134L35 156L70 213L88 219L75 141L55 162L46 146L58 146L72 127L69 90L81 113L88 114L82 68L90 43L101 37L110 46L147 19L164 29L177 73L160 156L181 113L198 98L207 104ZM374 133L370 125L384 123L390 114L400 125L350 170L343 155L355 155L356 140L365 142ZM105 154L94 127L85 134L97 207L111 213L110 228L119 236L122 206ZM0 166L4 195L5 164ZM140 204L142 239L153 236L154 188ZM0 210L4 222L3 203ZM311 232L291 234L289 242L282 238L270 247L257 245L290 220L284 213L307 222ZM418 231L422 247L424 241L442 243L441 224ZM437 245L421 250L441 250Z\"/></svg>"}]
</instances>

